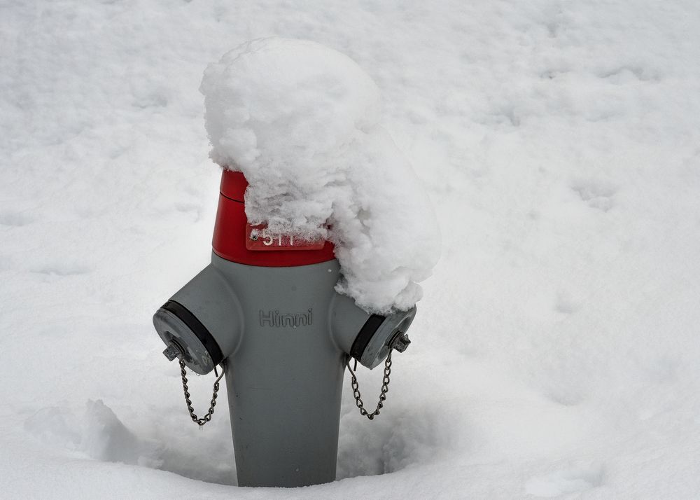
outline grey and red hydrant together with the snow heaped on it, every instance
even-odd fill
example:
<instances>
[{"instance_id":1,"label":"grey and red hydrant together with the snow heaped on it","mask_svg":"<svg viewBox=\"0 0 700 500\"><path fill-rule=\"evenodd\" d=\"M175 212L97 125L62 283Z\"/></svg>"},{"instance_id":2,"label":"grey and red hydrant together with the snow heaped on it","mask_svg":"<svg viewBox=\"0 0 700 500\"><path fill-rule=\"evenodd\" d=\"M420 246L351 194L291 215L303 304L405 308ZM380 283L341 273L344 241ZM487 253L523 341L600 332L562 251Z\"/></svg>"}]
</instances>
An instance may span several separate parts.
<instances>
[{"instance_id":1,"label":"grey and red hydrant together with the snow heaped on it","mask_svg":"<svg viewBox=\"0 0 700 500\"><path fill-rule=\"evenodd\" d=\"M426 222L416 207L427 205L424 195L402 199L414 195L412 172L388 134L349 108L373 85L335 51L279 39L241 46L204 76L212 158L225 162L211 263L153 323L164 354L179 358L200 426L214 412L218 380L209 412L197 417L185 368L223 366L239 485L335 480L349 360L385 361L373 412L351 370L358 408L372 419L386 399L391 351L409 344L415 282L435 261L417 247L437 248L436 225L416 229ZM416 231L420 243L407 245L403 232Z\"/></svg>"}]
</instances>

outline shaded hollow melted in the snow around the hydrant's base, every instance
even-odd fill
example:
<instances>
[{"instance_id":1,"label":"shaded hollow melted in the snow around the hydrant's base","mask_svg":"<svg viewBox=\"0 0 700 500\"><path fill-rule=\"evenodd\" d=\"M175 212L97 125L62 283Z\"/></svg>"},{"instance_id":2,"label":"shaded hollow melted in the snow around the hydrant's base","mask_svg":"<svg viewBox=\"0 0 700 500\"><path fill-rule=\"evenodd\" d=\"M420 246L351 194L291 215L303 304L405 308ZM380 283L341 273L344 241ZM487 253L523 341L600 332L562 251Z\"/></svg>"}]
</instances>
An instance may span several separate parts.
<instances>
[{"instance_id":1,"label":"shaded hollow melted in the snow around the hydrant's base","mask_svg":"<svg viewBox=\"0 0 700 500\"><path fill-rule=\"evenodd\" d=\"M346 401L349 403L349 401ZM430 409L391 410L369 422L344 405L340 424L337 480L393 473L434 459L444 448L444 425ZM162 417L162 415L161 415ZM144 466L185 478L237 485L228 415L207 429L179 436L129 429L101 400L87 401L82 417L66 408L47 407L25 421L25 431L44 445L90 459ZM170 417L166 417L169 419ZM173 418L181 420L181 415ZM162 428L173 425L161 422ZM442 431L440 429L443 429ZM225 437L225 438L223 438Z\"/></svg>"}]
</instances>

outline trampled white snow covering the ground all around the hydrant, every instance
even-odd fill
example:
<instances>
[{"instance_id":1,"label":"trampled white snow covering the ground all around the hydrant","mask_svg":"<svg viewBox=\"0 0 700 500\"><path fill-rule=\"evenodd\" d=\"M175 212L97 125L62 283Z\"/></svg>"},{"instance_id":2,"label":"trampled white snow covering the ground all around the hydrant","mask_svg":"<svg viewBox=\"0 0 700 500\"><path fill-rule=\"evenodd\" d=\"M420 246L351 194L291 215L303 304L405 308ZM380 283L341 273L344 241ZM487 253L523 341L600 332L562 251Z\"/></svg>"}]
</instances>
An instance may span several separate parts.
<instances>
[{"instance_id":1,"label":"trampled white snow covering the ground all around the hydrant","mask_svg":"<svg viewBox=\"0 0 700 500\"><path fill-rule=\"evenodd\" d=\"M699 25L690 0L1 0L0 496L700 496ZM209 259L202 71L270 35L377 81L444 242L386 411L346 391L339 481L299 490L234 486L223 401L188 422L151 326Z\"/></svg>"}]
</instances>

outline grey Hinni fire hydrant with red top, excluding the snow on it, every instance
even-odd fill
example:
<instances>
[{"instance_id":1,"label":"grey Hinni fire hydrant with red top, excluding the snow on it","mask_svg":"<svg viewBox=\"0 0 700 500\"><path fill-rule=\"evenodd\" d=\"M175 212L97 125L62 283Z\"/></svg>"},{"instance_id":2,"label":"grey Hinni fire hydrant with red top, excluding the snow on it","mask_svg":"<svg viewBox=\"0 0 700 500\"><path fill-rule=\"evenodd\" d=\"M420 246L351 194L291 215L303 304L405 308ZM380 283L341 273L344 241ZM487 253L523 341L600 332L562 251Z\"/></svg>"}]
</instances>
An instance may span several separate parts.
<instances>
[{"instance_id":1,"label":"grey Hinni fire hydrant with red top, excluding the snow on it","mask_svg":"<svg viewBox=\"0 0 700 500\"><path fill-rule=\"evenodd\" d=\"M337 293L332 244L249 225L247 186L243 174L224 169L211 264L160 307L153 324L165 356L180 360L190 416L200 425L214 406L197 419L185 366L204 375L221 364L239 486L330 482L349 359L367 368L390 361L392 349L407 347L416 310L368 314ZM218 380L214 387L212 403ZM371 419L376 411L367 413L358 394Z\"/></svg>"}]
</instances>

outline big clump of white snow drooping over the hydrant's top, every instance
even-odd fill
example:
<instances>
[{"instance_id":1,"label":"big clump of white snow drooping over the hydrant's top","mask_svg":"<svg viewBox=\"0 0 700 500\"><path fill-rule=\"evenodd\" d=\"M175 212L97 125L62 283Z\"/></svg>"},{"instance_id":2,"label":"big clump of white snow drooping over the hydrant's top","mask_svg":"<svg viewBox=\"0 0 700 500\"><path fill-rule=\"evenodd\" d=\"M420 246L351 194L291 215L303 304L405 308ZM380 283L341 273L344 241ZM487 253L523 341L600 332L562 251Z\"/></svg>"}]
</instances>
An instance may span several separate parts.
<instances>
[{"instance_id":1,"label":"big clump of white snow drooping over the hydrant's top","mask_svg":"<svg viewBox=\"0 0 700 500\"><path fill-rule=\"evenodd\" d=\"M426 193L377 125L379 89L318 43L259 39L204 71L211 158L248 179L246 215L273 233L335 244L337 291L406 310L440 256Z\"/></svg>"}]
</instances>

